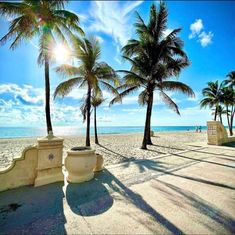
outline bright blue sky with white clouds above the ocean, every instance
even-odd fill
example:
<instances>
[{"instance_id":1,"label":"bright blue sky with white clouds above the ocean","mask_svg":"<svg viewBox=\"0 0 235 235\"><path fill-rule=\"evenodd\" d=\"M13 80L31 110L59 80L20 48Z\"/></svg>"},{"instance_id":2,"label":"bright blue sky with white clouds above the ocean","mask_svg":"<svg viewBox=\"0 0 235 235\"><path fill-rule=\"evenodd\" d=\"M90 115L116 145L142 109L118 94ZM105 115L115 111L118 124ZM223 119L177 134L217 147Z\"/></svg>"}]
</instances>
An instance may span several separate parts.
<instances>
[{"instance_id":1,"label":"bright blue sky with white clouds above the ocean","mask_svg":"<svg viewBox=\"0 0 235 235\"><path fill-rule=\"evenodd\" d=\"M158 1L71 1L67 9L76 12L81 27L95 35L101 43L102 60L114 69L127 69L120 50L128 39L135 37L135 11L148 19L152 3ZM200 110L201 90L208 81L223 80L235 69L235 2L232 1L167 1L169 18L166 33L182 28L180 37L191 65L179 76L190 85L195 98L169 93L177 102L181 116L165 106L158 94L152 115L152 125L205 125L211 111ZM0 18L0 37L8 30L8 21ZM37 40L22 43L14 51L9 43L0 46L0 126L44 126L44 72L37 65ZM61 78L51 65L52 92ZM85 90L73 90L67 98L52 102L54 125L83 126L80 100ZM104 92L107 101L111 96ZM108 107L104 103L98 110L100 126L142 126L145 107L137 103L138 93L125 98L122 104Z\"/></svg>"}]
</instances>

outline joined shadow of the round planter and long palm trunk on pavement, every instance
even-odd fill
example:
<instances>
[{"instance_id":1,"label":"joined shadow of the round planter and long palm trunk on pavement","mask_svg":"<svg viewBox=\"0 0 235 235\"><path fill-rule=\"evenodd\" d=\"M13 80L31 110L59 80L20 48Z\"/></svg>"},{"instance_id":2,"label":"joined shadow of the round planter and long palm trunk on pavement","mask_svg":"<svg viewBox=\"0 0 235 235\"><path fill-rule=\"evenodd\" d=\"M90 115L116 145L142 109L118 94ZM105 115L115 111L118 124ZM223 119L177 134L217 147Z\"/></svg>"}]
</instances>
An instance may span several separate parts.
<instances>
[{"instance_id":1,"label":"joined shadow of the round planter and long palm trunk on pavement","mask_svg":"<svg viewBox=\"0 0 235 235\"><path fill-rule=\"evenodd\" d=\"M83 191L83 199L78 198L81 190ZM149 205L141 195L126 187L106 169L103 172L96 173L95 179L90 182L69 184L66 189L66 199L74 213L83 216L92 216L107 211L113 205L111 194L115 192L123 196L125 200L132 203L142 212L152 217L152 219L164 226L169 232L183 234L178 227ZM147 224L145 226L148 227ZM148 229L151 228L148 227Z\"/></svg>"}]
</instances>

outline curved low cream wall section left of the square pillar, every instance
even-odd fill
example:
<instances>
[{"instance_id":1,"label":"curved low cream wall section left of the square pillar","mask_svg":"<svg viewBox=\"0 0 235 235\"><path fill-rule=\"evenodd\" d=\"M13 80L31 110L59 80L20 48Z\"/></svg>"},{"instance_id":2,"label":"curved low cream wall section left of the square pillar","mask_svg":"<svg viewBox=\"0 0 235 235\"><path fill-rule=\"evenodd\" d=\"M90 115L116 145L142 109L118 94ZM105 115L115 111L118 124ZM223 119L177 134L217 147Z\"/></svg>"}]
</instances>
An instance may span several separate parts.
<instances>
[{"instance_id":1,"label":"curved low cream wall section left of the square pillar","mask_svg":"<svg viewBox=\"0 0 235 235\"><path fill-rule=\"evenodd\" d=\"M0 171L0 191L33 185L37 174L37 163L37 146L25 148L20 158L14 159L9 168Z\"/></svg>"}]
</instances>

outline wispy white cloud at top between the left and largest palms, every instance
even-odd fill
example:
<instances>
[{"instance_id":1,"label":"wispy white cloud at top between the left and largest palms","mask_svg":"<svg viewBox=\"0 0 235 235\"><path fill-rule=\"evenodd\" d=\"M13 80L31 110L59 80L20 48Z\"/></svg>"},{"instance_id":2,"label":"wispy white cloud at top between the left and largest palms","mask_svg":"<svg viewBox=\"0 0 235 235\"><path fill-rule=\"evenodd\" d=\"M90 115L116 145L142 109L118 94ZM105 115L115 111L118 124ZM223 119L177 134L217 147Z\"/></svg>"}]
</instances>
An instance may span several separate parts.
<instances>
[{"instance_id":1,"label":"wispy white cloud at top between the left and largest palms","mask_svg":"<svg viewBox=\"0 0 235 235\"><path fill-rule=\"evenodd\" d=\"M91 3L92 18L89 31L103 32L114 38L121 46L125 45L132 35L129 13L143 1L94 1Z\"/></svg>"}]
</instances>

